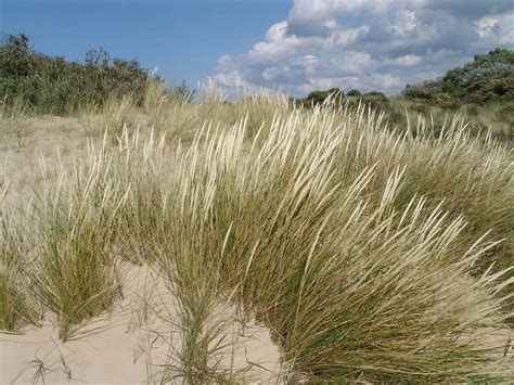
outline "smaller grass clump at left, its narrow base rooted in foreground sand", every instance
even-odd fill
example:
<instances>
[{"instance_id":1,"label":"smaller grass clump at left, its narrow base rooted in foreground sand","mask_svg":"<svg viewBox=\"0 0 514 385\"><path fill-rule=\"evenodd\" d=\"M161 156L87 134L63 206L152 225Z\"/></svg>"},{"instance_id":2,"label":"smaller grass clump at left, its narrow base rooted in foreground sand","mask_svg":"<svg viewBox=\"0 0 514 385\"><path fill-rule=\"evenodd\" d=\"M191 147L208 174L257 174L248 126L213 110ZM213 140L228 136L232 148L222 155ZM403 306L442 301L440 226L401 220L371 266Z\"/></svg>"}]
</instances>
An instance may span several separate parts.
<instances>
[{"instance_id":1,"label":"smaller grass clump at left, its narrow base rooted in foreground sand","mask_svg":"<svg viewBox=\"0 0 514 385\"><path fill-rule=\"evenodd\" d=\"M38 206L39 258L34 281L40 301L57 318L67 339L81 321L108 310L119 294L113 245L124 192L108 166L92 157L87 172L62 176Z\"/></svg>"}]
</instances>

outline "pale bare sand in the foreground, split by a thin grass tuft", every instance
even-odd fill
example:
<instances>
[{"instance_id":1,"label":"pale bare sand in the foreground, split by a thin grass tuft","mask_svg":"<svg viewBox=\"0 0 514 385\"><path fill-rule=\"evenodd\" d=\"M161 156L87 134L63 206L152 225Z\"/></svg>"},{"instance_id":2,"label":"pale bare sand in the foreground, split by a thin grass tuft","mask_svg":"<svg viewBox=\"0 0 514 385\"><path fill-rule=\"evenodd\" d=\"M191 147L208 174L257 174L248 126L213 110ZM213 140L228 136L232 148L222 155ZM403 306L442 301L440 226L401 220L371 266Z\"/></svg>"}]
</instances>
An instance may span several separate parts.
<instances>
[{"instance_id":1,"label":"pale bare sand in the foreground, split by a thin grass tuft","mask_svg":"<svg viewBox=\"0 0 514 385\"><path fill-rule=\"evenodd\" d=\"M180 349L177 299L147 267L124 264L126 293L110 313L59 341L51 317L42 328L0 335L0 383L89 384L158 383L162 364ZM230 311L215 317L227 317ZM280 351L266 328L233 321L224 330L231 342L219 368L239 373L242 383L280 381ZM180 382L180 381L178 381Z\"/></svg>"}]
</instances>

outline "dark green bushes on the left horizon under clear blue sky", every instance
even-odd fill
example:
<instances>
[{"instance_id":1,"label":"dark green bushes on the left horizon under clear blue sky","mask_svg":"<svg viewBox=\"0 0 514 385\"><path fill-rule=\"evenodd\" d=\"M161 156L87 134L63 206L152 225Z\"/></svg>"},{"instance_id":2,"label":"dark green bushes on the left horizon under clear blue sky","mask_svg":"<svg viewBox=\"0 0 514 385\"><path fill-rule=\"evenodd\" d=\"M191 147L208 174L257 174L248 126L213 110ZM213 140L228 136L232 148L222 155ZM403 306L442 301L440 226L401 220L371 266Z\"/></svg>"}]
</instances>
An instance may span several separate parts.
<instances>
[{"instance_id":1,"label":"dark green bushes on the left horizon under clear blue sky","mask_svg":"<svg viewBox=\"0 0 514 385\"><path fill-rule=\"evenodd\" d=\"M10 35L0 44L1 100L9 105L21 98L37 113L66 114L124 94L141 103L150 79L138 61L111 57L102 48L78 63L37 52L24 34Z\"/></svg>"}]
</instances>

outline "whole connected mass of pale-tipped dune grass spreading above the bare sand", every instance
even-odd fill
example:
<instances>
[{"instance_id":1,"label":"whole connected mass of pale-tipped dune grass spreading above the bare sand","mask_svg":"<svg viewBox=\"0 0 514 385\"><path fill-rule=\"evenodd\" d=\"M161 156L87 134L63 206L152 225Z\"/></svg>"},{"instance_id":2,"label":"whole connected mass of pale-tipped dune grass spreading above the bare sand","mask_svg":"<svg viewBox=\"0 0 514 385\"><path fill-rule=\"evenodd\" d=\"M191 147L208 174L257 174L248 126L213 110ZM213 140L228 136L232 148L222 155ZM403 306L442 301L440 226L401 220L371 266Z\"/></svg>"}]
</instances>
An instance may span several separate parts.
<instances>
[{"instance_id":1,"label":"whole connected mass of pale-tipped dune grass spreading above the bare sand","mask_svg":"<svg viewBox=\"0 0 514 385\"><path fill-rule=\"evenodd\" d=\"M232 378L216 359L223 301L269 328L292 382L513 378L506 341L485 344L510 331L510 150L459 119L395 130L364 106L154 91L154 130L117 119L118 146L105 137L26 226L62 338L112 307L123 258L154 266L177 297L165 381Z\"/></svg>"}]
</instances>

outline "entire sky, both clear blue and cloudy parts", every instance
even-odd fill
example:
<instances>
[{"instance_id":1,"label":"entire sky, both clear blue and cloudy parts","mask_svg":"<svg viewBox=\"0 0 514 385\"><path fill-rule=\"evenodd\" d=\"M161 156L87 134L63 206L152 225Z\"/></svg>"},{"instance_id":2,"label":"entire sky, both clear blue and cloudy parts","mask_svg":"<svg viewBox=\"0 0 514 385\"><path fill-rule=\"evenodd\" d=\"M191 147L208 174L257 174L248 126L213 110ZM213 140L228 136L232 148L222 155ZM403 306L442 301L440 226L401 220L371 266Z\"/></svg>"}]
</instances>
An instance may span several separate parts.
<instances>
[{"instance_id":1,"label":"entire sky, both clear blue and cloudy parts","mask_svg":"<svg viewBox=\"0 0 514 385\"><path fill-rule=\"evenodd\" d=\"M0 0L0 31L69 60L101 46L171 87L397 94L514 49L514 0Z\"/></svg>"}]
</instances>

